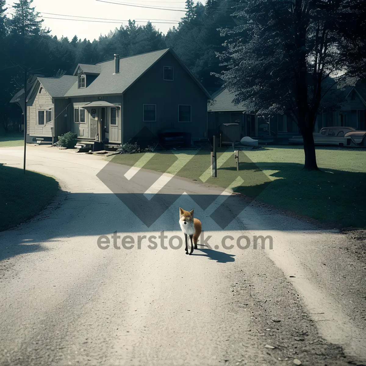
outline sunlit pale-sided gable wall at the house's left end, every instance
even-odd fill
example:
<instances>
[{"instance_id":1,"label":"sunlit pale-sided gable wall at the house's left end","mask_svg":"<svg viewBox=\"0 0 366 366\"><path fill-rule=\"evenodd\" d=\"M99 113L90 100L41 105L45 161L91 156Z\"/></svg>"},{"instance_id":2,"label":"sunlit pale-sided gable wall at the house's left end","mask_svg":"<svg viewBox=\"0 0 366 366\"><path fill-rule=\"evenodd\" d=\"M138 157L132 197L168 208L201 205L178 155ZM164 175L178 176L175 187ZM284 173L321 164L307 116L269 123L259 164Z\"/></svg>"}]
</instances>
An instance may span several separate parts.
<instances>
[{"instance_id":1,"label":"sunlit pale-sided gable wall at the house's left end","mask_svg":"<svg viewBox=\"0 0 366 366\"><path fill-rule=\"evenodd\" d=\"M55 117L55 108L52 97L38 83L35 92L28 100L27 105L27 134L37 137L52 137L51 127L53 127L53 118ZM46 123L46 112L44 114L44 124L38 124L38 111L46 111L52 108L52 121Z\"/></svg>"}]
</instances>

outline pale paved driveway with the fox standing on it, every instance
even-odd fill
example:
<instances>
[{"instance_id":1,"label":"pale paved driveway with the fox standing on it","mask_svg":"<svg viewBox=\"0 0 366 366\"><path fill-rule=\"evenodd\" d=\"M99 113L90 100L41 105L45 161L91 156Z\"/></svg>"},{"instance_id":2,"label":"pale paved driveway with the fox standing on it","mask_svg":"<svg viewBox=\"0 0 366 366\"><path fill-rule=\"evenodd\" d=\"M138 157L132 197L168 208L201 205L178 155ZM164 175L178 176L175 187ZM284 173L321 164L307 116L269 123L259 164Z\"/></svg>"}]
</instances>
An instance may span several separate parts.
<instances>
[{"instance_id":1,"label":"pale paved driveway with the fox standing on it","mask_svg":"<svg viewBox=\"0 0 366 366\"><path fill-rule=\"evenodd\" d=\"M365 300L348 291L362 264L337 232L176 177L144 195L161 173L126 179L130 167L101 157L27 153L27 168L61 191L0 233L1 365L365 362ZM0 149L0 162L22 167L22 148ZM203 224L207 245L192 256L172 249L179 207ZM211 217L218 209L233 219L225 229ZM273 249L253 249L254 235L272 236Z\"/></svg>"}]
</instances>

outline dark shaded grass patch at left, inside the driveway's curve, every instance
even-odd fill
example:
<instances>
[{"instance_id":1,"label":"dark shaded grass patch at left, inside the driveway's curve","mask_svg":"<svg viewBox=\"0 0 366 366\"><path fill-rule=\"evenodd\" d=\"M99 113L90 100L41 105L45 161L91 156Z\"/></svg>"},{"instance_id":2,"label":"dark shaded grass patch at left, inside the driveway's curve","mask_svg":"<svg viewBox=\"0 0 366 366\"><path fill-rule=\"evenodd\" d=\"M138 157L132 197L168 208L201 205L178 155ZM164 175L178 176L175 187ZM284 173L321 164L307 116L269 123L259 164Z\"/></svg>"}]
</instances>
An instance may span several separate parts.
<instances>
[{"instance_id":1,"label":"dark shaded grass patch at left, inside the driveway's curve","mask_svg":"<svg viewBox=\"0 0 366 366\"><path fill-rule=\"evenodd\" d=\"M0 164L0 231L39 213L56 195L59 183L52 177Z\"/></svg>"}]
</instances>

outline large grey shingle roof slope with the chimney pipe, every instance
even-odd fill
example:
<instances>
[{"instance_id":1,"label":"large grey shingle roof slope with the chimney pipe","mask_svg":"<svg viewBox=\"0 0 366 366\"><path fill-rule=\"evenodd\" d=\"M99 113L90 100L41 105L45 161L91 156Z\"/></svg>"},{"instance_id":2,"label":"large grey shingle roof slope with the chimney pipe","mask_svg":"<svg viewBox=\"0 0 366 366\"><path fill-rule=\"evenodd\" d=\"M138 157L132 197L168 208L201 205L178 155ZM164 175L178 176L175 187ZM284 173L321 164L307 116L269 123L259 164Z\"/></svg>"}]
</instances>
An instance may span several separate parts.
<instances>
[{"instance_id":1,"label":"large grey shingle roof slope with the chimney pipe","mask_svg":"<svg viewBox=\"0 0 366 366\"><path fill-rule=\"evenodd\" d=\"M67 91L65 97L122 94L133 82L147 71L168 49L143 53L141 55L123 57L119 60L119 74L115 72L115 61L105 61L97 66L101 67L100 75L87 87L78 89L75 84Z\"/></svg>"}]
</instances>

